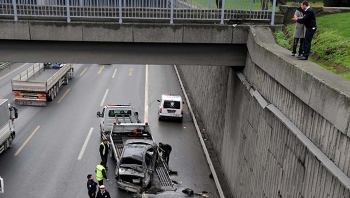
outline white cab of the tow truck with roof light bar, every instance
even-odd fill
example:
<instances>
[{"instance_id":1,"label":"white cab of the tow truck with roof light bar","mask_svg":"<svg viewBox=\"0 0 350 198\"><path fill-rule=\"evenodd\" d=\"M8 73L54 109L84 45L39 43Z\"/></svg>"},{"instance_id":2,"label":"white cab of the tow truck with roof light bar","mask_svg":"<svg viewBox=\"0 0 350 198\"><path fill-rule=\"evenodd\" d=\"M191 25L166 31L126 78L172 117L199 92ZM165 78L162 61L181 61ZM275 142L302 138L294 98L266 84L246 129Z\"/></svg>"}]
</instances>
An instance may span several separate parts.
<instances>
[{"instance_id":1,"label":"white cab of the tow truck with roof light bar","mask_svg":"<svg viewBox=\"0 0 350 198\"><path fill-rule=\"evenodd\" d=\"M138 112L136 112L130 104L106 104L102 112L97 111L96 117L100 118L99 133L108 135L112 128L113 122L118 119L118 122L123 123L139 123Z\"/></svg>"}]
</instances>

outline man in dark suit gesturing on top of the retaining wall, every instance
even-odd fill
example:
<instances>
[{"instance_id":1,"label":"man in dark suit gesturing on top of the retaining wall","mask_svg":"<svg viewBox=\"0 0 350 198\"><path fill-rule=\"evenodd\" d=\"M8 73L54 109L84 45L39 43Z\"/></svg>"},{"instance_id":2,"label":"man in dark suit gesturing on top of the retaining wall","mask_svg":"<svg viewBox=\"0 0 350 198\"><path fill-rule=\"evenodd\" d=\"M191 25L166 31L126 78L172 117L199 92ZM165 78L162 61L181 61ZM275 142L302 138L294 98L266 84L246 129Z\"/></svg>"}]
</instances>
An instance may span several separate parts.
<instances>
[{"instance_id":1,"label":"man in dark suit gesturing on top of the retaining wall","mask_svg":"<svg viewBox=\"0 0 350 198\"><path fill-rule=\"evenodd\" d=\"M316 17L308 2L302 2L301 8L304 11L304 18L298 19L297 16L294 15L294 18L292 20L296 21L297 23L303 24L306 28L304 38L304 53L303 56L298 57L297 59L307 60L308 55L310 54L311 41L314 33L316 32Z\"/></svg>"}]
</instances>

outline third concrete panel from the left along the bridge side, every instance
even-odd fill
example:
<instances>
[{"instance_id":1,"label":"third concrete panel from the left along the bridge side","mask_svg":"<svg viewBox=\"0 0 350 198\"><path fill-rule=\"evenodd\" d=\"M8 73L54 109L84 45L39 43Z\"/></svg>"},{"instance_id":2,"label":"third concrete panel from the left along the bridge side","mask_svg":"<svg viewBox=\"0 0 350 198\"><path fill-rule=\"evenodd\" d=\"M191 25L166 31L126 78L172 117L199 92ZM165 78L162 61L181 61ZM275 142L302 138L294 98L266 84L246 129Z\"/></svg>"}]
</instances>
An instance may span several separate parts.
<instances>
[{"instance_id":1,"label":"third concrete panel from the left along the bridge side","mask_svg":"<svg viewBox=\"0 0 350 198\"><path fill-rule=\"evenodd\" d=\"M83 22L83 41L133 42L132 24Z\"/></svg>"}]
</instances>

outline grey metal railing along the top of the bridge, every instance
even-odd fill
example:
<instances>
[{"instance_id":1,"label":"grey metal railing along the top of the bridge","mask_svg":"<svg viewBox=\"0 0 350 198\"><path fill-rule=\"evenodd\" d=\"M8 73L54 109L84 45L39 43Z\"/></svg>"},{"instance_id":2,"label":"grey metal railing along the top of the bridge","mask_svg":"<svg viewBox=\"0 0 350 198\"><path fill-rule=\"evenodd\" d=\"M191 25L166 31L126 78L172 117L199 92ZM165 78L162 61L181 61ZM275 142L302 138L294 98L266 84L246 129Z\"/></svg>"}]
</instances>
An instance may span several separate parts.
<instances>
[{"instance_id":1,"label":"grey metal railing along the top of the bridge","mask_svg":"<svg viewBox=\"0 0 350 198\"><path fill-rule=\"evenodd\" d=\"M272 1L272 0L271 0ZM19 18L224 21L264 20L273 25L269 0L0 0L0 16ZM272 8L270 9L269 8Z\"/></svg>"}]
</instances>

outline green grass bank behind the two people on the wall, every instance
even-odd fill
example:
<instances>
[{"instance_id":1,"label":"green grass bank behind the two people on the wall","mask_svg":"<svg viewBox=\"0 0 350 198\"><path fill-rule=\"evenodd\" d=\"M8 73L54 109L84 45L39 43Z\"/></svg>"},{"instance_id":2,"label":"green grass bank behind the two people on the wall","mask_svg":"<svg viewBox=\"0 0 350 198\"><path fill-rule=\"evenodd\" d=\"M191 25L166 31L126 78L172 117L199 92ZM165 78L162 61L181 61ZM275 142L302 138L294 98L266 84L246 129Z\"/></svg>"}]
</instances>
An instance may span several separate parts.
<instances>
[{"instance_id":1,"label":"green grass bank behind the two people on the wall","mask_svg":"<svg viewBox=\"0 0 350 198\"><path fill-rule=\"evenodd\" d=\"M316 18L317 30L312 39L312 62L350 80L350 13L337 13ZM275 33L278 45L291 50L295 24ZM284 41L283 41L284 40ZM288 45L285 45L285 42Z\"/></svg>"}]
</instances>

